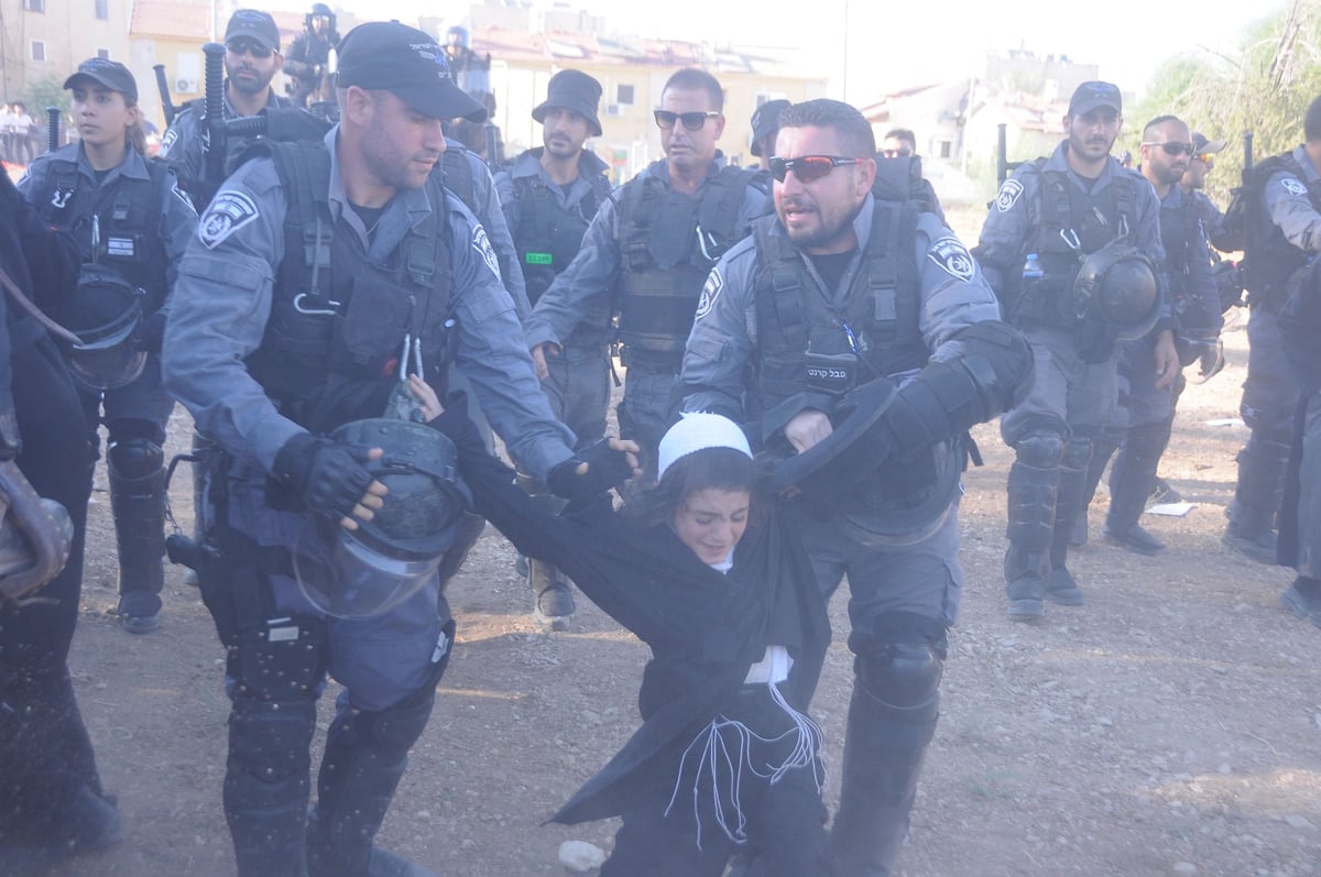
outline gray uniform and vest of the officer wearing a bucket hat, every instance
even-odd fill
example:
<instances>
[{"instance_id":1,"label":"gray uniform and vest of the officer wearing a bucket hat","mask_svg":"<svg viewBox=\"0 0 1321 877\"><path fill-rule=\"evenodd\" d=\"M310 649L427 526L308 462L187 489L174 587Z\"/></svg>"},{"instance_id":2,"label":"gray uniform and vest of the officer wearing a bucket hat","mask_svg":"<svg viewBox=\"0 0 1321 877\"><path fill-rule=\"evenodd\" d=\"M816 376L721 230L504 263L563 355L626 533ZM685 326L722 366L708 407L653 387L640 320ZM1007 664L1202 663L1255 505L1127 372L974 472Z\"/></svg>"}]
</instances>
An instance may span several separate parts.
<instances>
[{"instance_id":1,"label":"gray uniform and vest of the officer wearing a bucket hat","mask_svg":"<svg viewBox=\"0 0 1321 877\"><path fill-rule=\"evenodd\" d=\"M535 304L583 244L597 210L610 197L606 165L594 153L579 153L579 176L568 186L553 182L540 162L542 149L528 149L495 177L505 219L514 232L528 298ZM565 339L561 355L547 357L550 376L542 382L556 416L580 442L605 435L610 403L610 302L597 296Z\"/></svg>"}]
</instances>

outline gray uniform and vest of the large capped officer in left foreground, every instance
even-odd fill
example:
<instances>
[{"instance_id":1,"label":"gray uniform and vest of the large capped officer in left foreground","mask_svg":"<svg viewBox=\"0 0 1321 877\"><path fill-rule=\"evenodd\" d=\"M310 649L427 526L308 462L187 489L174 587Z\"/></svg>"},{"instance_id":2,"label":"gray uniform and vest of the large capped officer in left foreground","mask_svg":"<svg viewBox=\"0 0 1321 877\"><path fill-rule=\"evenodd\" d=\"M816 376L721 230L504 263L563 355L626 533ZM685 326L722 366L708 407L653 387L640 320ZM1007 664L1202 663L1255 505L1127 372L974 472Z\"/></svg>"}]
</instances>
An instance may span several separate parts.
<instances>
[{"instance_id":1,"label":"gray uniform and vest of the large capped officer in left foreground","mask_svg":"<svg viewBox=\"0 0 1321 877\"><path fill-rule=\"evenodd\" d=\"M572 456L573 436L538 390L485 231L433 177L423 189L400 190L369 232L343 189L337 133L333 128L326 135L329 156L321 158L329 161L329 197L316 205L316 215L334 234L330 260L338 269L330 271L330 281L320 292L316 285L291 288L304 276L305 254L299 247L287 259L285 235L301 240L306 223L291 228L287 219L295 203L306 217L308 205L285 189L276 161L279 149L320 149L275 144L272 158L244 164L203 214L180 267L165 338L166 386L227 457L219 481L213 478L209 486L209 511L225 519L209 522L209 530L235 556L199 572L203 598L230 651L225 799L242 874L296 873L301 865L308 745L326 672L345 692L328 736L318 807L325 816L326 808L338 808L333 802L355 800L354 806L374 811L370 820L363 816L374 823L365 831L374 833L404 755L431 713L454 630L435 573L415 597L380 617L318 617L281 557L313 524L308 515L271 505L267 473L279 450L309 424L328 432L339 423L380 416L378 391L388 392L398 380L388 370L403 366L390 366L388 357L406 333L416 330L424 341L417 355L428 383L444 390L444 349L452 347L454 365L531 472L544 477ZM345 271L351 276L339 276ZM350 287L346 305L334 300ZM411 305L403 304L403 292L410 292ZM421 328L413 322L417 304ZM408 316L395 322L400 309ZM363 349L367 335L379 335L382 320L384 332L398 329L398 342ZM310 347L268 343L291 332L320 341ZM448 342L437 341L440 332ZM343 347L371 359L369 370L353 371L337 358ZM366 402L353 392L339 402L318 395L336 380L350 391L375 390ZM236 615L236 623L226 614ZM347 763L357 766L347 770Z\"/></svg>"}]
</instances>

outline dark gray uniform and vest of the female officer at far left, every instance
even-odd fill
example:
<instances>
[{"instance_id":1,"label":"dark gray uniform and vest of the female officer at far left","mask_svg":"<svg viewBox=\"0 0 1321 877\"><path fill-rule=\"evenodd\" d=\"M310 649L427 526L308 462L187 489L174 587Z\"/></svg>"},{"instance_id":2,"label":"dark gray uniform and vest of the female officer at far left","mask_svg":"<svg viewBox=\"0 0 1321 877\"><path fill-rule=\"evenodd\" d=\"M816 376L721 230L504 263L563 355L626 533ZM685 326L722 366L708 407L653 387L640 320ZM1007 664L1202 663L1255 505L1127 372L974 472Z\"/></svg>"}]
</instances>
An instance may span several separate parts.
<instances>
[{"instance_id":1,"label":"dark gray uniform and vest of the female officer at far left","mask_svg":"<svg viewBox=\"0 0 1321 877\"><path fill-rule=\"evenodd\" d=\"M197 230L197 211L168 165L149 165L129 149L118 168L98 174L82 145L71 144L38 157L18 189L42 219L74 235L85 263L95 262L145 291L144 320L168 312L178 262ZM124 387L82 387L79 395L91 428L89 466L100 444L98 424L110 433L106 464L119 543L119 612L151 618L160 610L165 581L161 445L174 409L161 382L160 355L148 354L143 374Z\"/></svg>"}]
</instances>

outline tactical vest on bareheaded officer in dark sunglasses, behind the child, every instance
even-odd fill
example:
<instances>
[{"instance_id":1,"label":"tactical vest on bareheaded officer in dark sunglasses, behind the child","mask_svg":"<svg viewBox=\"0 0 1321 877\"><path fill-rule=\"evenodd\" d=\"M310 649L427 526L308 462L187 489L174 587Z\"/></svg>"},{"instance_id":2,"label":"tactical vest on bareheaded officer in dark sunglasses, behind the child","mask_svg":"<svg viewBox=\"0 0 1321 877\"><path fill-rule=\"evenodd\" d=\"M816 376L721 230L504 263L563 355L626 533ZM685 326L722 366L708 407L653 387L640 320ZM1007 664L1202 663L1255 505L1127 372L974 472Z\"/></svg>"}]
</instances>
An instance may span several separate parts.
<instances>
[{"instance_id":1,"label":"tactical vest on bareheaded officer in dark sunglasses, behind the child","mask_svg":"<svg viewBox=\"0 0 1321 877\"><path fill-rule=\"evenodd\" d=\"M618 195L620 341L629 363L678 371L707 275L742 238L752 173L721 168L696 195L671 189L664 173L658 161Z\"/></svg>"}]
</instances>

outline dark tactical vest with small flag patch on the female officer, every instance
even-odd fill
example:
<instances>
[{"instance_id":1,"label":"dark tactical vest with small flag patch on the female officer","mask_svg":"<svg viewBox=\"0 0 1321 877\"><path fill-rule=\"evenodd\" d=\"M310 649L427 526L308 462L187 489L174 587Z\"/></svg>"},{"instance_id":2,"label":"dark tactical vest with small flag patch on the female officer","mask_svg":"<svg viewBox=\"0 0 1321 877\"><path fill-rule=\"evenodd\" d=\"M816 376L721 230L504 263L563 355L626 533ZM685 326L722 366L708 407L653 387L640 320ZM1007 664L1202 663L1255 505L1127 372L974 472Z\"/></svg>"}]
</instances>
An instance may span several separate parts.
<instances>
[{"instance_id":1,"label":"dark tactical vest with small flag patch on the female officer","mask_svg":"<svg viewBox=\"0 0 1321 877\"><path fill-rule=\"evenodd\" d=\"M78 147L67 149L77 156ZM147 180L120 174L110 186L95 188L78 173L77 158L55 157L32 201L45 222L73 234L83 262L95 262L144 291L143 312L155 313L169 293L169 256L160 236L168 166L148 160L147 173Z\"/></svg>"}]
</instances>

